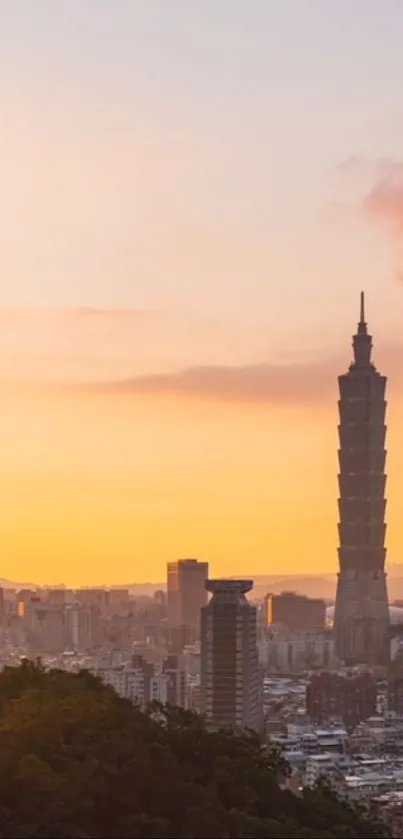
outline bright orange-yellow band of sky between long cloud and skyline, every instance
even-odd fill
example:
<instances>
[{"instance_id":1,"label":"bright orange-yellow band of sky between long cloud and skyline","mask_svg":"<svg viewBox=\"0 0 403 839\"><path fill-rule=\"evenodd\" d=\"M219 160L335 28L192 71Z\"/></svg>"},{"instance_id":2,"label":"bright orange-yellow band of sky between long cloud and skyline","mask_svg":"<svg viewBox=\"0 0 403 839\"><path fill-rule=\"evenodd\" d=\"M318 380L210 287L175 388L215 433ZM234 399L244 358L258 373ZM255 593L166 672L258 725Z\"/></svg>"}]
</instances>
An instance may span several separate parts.
<instances>
[{"instance_id":1,"label":"bright orange-yellow band of sky between long cloud and skyline","mask_svg":"<svg viewBox=\"0 0 403 839\"><path fill-rule=\"evenodd\" d=\"M403 406L390 411L390 557ZM38 582L164 578L167 560L215 574L336 568L336 411L166 395L8 391L2 574Z\"/></svg>"}]
</instances>

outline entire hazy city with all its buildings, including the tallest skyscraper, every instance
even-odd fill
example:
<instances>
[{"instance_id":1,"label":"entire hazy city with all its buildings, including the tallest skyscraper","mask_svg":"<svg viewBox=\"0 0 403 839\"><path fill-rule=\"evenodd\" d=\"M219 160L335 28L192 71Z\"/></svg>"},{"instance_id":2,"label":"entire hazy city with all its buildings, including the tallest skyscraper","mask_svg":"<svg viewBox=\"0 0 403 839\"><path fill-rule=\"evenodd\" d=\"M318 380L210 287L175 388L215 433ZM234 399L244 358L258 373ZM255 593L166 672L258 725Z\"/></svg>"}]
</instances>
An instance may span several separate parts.
<instances>
[{"instance_id":1,"label":"entire hazy city with all its buildings, including the tallest skyscraper","mask_svg":"<svg viewBox=\"0 0 403 839\"><path fill-rule=\"evenodd\" d=\"M254 599L253 579L167 564L166 586L1 589L2 666L40 658L89 670L122 698L254 730L278 746L287 783L329 781L403 830L403 606L385 573L386 382L371 359L364 293L339 376L339 565L335 603L298 591Z\"/></svg>"}]
</instances>

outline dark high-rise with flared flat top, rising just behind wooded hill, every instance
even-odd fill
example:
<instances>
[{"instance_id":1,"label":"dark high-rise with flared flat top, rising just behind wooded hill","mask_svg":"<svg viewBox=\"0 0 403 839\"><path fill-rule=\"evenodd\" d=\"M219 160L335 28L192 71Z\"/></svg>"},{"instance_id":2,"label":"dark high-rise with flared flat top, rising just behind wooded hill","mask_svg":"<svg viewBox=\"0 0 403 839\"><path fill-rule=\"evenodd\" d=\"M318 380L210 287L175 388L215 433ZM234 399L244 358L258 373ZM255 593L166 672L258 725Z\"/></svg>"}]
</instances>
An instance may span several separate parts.
<instances>
[{"instance_id":1,"label":"dark high-rise with flared flat top, rising just behind wooded hill","mask_svg":"<svg viewBox=\"0 0 403 839\"><path fill-rule=\"evenodd\" d=\"M201 619L201 710L211 728L261 726L257 610L251 580L208 580Z\"/></svg>"}]
</instances>

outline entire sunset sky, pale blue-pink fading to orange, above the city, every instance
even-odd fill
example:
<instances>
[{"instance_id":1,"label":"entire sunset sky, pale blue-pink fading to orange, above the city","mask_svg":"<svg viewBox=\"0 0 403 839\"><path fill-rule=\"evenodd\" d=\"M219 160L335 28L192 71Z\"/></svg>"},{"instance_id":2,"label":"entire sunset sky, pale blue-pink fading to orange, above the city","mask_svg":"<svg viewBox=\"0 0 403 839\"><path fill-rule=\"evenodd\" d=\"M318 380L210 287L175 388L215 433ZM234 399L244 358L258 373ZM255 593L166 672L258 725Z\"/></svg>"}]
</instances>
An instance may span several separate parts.
<instances>
[{"instance_id":1,"label":"entire sunset sky, pale blue-pink fading to orange, above the city","mask_svg":"<svg viewBox=\"0 0 403 839\"><path fill-rule=\"evenodd\" d=\"M400 0L0 2L1 576L337 569L366 292L403 561Z\"/></svg>"}]
</instances>

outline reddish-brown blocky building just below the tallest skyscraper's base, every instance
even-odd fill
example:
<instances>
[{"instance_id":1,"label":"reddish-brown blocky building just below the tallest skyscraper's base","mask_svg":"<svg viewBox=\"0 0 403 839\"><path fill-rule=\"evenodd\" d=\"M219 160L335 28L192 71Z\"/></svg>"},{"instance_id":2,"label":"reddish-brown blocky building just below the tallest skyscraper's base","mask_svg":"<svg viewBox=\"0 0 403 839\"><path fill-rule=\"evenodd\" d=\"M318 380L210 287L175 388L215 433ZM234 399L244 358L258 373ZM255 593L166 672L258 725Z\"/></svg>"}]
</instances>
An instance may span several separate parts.
<instances>
[{"instance_id":1,"label":"reddish-brown blocky building just below the tallest skyscraper's base","mask_svg":"<svg viewBox=\"0 0 403 839\"><path fill-rule=\"evenodd\" d=\"M368 672L315 673L307 687L307 711L316 722L342 719L347 730L376 711L376 682Z\"/></svg>"}]
</instances>

